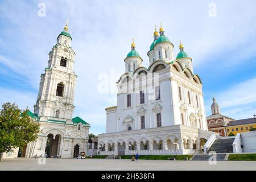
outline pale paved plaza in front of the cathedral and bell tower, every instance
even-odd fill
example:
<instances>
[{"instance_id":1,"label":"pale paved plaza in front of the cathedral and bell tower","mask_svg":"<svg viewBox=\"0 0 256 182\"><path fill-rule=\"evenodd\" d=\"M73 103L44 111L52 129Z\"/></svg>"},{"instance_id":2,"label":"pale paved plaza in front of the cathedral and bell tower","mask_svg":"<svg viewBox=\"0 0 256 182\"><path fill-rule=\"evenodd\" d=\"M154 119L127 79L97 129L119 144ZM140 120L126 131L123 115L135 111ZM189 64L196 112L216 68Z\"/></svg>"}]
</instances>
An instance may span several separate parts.
<instances>
[{"instance_id":1,"label":"pale paved plaza in front of the cathedral and bell tower","mask_svg":"<svg viewBox=\"0 0 256 182\"><path fill-rule=\"evenodd\" d=\"M39 159L40 162L40 159ZM208 161L168 161L168 160L139 160L131 162L127 159L46 159L46 164L38 164L38 159L3 159L1 170L254 170L256 161L217 161L210 165Z\"/></svg>"}]
</instances>

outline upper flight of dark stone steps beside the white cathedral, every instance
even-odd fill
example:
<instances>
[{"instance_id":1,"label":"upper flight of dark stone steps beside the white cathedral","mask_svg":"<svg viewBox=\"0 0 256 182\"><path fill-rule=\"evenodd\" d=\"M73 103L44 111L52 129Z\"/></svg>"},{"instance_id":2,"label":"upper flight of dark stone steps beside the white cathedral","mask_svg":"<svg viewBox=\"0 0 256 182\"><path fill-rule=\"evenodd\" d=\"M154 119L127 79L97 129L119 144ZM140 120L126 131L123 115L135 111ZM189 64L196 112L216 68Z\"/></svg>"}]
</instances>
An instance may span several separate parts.
<instances>
[{"instance_id":1,"label":"upper flight of dark stone steps beside the white cathedral","mask_svg":"<svg viewBox=\"0 0 256 182\"><path fill-rule=\"evenodd\" d=\"M207 153L210 151L215 151L216 153L233 153L233 142L234 138L216 139L208 149Z\"/></svg>"}]
</instances>

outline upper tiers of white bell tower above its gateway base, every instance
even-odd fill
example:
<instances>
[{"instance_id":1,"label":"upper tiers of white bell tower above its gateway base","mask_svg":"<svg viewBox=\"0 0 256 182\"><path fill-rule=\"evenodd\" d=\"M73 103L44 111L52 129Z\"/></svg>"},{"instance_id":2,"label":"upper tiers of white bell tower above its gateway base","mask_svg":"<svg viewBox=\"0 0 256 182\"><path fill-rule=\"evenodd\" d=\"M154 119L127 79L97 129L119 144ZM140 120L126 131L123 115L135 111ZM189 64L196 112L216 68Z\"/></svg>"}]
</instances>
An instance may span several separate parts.
<instances>
[{"instance_id":1,"label":"upper tiers of white bell tower above its gateway base","mask_svg":"<svg viewBox=\"0 0 256 182\"><path fill-rule=\"evenodd\" d=\"M73 72L76 53L71 47L68 20L57 37L57 43L49 52L48 67L41 75L34 112L38 117L63 121L72 119L75 106L76 74Z\"/></svg>"}]
</instances>

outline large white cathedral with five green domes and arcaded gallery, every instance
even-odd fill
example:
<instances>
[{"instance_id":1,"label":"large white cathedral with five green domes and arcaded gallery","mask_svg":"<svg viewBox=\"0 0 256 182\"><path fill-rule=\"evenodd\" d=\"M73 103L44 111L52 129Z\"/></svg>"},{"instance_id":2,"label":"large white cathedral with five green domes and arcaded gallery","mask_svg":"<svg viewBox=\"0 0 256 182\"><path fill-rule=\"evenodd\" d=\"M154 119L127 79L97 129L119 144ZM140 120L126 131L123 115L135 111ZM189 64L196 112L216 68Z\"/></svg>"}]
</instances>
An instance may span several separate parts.
<instances>
[{"instance_id":1,"label":"large white cathedral with five green domes and arcaded gallery","mask_svg":"<svg viewBox=\"0 0 256 182\"><path fill-rule=\"evenodd\" d=\"M162 25L159 31L147 53L148 68L131 44L117 82L117 106L106 108L106 133L98 139L101 155L194 154L215 135L207 131L202 82L193 73L191 57L180 42L175 58ZM159 84L150 84L150 77Z\"/></svg>"}]
</instances>

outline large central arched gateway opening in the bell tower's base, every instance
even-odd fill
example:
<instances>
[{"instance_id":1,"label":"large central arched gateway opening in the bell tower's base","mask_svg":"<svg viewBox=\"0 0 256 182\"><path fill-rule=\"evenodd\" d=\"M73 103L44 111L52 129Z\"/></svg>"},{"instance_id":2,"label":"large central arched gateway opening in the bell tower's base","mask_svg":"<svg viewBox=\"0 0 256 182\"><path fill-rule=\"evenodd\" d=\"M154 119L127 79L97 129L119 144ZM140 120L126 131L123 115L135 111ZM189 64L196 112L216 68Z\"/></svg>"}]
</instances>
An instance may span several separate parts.
<instances>
[{"instance_id":1,"label":"large central arched gateway opening in the bell tower's base","mask_svg":"<svg viewBox=\"0 0 256 182\"><path fill-rule=\"evenodd\" d=\"M47 135L47 142L46 142L46 155L48 158L54 158L57 155L59 155L60 151L60 141L61 141L61 136L57 134L55 136L55 139L53 139L52 134Z\"/></svg>"}]
</instances>

